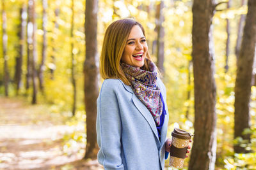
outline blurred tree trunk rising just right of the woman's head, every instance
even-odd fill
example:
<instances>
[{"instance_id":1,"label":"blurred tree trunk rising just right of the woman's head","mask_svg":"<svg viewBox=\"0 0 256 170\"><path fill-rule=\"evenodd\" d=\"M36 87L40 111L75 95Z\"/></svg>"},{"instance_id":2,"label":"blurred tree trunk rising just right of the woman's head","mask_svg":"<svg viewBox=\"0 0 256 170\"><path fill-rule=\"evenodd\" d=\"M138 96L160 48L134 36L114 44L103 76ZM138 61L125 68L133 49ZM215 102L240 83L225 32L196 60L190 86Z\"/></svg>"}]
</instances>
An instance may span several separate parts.
<instances>
[{"instance_id":1,"label":"blurred tree trunk rising just right of the woman's head","mask_svg":"<svg viewBox=\"0 0 256 170\"><path fill-rule=\"evenodd\" d=\"M156 31L157 31L157 67L161 73L164 73L164 1L157 4L156 10Z\"/></svg>"}]
</instances>

